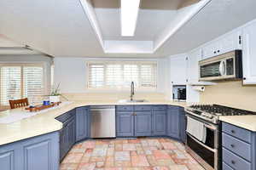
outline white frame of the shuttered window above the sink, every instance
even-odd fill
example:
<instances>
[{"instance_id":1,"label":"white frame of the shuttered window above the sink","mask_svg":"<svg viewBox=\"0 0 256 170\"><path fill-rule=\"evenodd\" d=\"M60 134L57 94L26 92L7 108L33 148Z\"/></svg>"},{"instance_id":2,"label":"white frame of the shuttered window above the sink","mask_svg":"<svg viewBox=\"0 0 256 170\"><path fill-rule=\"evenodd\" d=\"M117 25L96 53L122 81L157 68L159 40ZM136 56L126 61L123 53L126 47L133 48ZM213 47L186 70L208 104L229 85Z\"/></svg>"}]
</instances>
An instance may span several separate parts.
<instances>
[{"instance_id":1,"label":"white frame of the shuttered window above the sink","mask_svg":"<svg viewBox=\"0 0 256 170\"><path fill-rule=\"evenodd\" d=\"M90 83L90 64L104 64L104 65L110 65L110 64L119 64L119 65L125 65L125 64L128 64L128 65L154 65L155 66L155 74L154 74L154 78L155 78L155 87L150 87L150 88L136 88L136 91L138 92L156 92L157 91L157 88L158 88L158 72L159 72L159 63L158 63L158 60L88 60L86 61L86 76L85 76L85 88L87 91L90 91L90 92L115 92L115 91L122 91L122 92L128 92L130 91L130 87L117 87L117 88L107 88L106 86L104 86L104 88L90 88L89 86L89 83ZM106 68L106 67L105 67ZM139 75L139 79L138 79L138 82L140 83L141 82L141 78L140 78L140 74L141 74L141 71L138 72L138 75ZM104 78L106 77L106 72L104 71ZM106 82L104 82L106 83Z\"/></svg>"}]
</instances>

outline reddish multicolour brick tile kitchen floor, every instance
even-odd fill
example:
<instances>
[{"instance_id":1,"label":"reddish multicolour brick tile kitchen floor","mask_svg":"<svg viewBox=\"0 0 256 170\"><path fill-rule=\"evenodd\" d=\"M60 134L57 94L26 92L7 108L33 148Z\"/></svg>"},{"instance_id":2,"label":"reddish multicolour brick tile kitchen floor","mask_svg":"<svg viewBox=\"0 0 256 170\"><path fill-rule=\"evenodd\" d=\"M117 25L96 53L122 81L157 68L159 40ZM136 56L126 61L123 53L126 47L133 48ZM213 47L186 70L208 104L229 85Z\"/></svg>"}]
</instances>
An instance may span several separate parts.
<instances>
[{"instance_id":1,"label":"reddish multicolour brick tile kitchen floor","mask_svg":"<svg viewBox=\"0 0 256 170\"><path fill-rule=\"evenodd\" d=\"M204 170L172 139L96 139L75 144L60 170Z\"/></svg>"}]
</instances>

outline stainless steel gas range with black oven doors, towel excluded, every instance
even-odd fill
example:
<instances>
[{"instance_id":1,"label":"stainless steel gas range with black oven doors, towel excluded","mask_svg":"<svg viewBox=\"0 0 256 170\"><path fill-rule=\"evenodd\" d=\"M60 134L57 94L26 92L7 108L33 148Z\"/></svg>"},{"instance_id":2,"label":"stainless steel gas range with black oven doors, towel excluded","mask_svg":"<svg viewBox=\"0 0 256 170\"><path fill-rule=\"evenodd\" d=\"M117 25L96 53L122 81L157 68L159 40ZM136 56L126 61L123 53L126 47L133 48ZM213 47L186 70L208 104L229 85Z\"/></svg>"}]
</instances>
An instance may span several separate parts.
<instances>
[{"instance_id":1,"label":"stainless steel gas range with black oven doors, towel excluded","mask_svg":"<svg viewBox=\"0 0 256 170\"><path fill-rule=\"evenodd\" d=\"M207 129L206 142L203 143L186 132L186 150L207 170L220 170L221 126L219 116L253 115L255 112L243 111L223 105L191 105L185 108L186 116L203 122Z\"/></svg>"}]
</instances>

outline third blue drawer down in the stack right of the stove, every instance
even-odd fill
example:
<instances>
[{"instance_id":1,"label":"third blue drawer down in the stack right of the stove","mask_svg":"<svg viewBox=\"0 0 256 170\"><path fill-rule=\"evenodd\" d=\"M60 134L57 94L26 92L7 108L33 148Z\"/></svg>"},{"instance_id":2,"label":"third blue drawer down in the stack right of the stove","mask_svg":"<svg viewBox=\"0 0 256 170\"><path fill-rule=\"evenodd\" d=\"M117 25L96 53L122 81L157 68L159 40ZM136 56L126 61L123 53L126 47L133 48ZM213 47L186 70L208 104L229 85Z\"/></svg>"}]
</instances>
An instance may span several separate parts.
<instances>
[{"instance_id":1,"label":"third blue drawer down in the stack right of the stove","mask_svg":"<svg viewBox=\"0 0 256 170\"><path fill-rule=\"evenodd\" d=\"M249 163L248 161L242 159L240 156L236 156L235 154L224 148L222 149L222 151L223 161L230 167L237 170L251 170L251 163Z\"/></svg>"}]
</instances>

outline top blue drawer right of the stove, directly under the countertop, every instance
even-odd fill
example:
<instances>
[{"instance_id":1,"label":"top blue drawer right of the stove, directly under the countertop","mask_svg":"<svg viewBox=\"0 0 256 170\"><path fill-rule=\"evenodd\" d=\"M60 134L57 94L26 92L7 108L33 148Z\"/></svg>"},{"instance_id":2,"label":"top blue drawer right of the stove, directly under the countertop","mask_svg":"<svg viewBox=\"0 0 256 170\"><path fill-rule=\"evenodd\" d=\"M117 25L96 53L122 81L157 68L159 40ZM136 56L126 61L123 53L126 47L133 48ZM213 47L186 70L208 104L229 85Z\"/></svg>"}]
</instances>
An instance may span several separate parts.
<instances>
[{"instance_id":1,"label":"top blue drawer right of the stove, directly under the countertop","mask_svg":"<svg viewBox=\"0 0 256 170\"><path fill-rule=\"evenodd\" d=\"M237 139L241 139L243 141L246 141L247 143L251 143L252 133L244 128L236 127L229 123L223 122L222 123L222 131L224 133L228 133L231 136L236 137Z\"/></svg>"}]
</instances>

